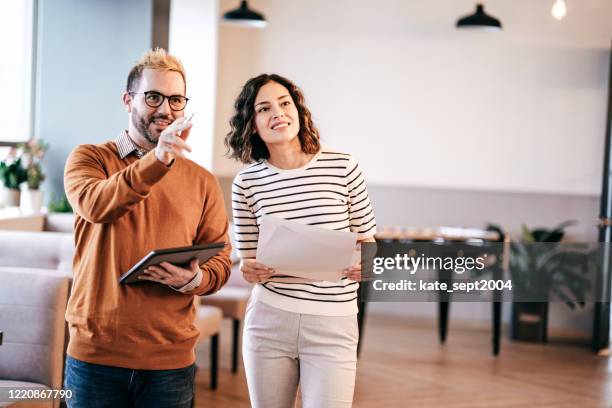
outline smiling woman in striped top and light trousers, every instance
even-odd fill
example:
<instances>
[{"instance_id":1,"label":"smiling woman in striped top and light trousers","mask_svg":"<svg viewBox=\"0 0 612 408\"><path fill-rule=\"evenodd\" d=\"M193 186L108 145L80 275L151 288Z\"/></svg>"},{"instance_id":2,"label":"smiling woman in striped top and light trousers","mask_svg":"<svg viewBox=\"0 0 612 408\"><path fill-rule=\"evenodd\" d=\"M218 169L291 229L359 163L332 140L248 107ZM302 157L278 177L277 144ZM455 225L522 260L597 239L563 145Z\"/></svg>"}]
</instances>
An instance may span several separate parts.
<instances>
[{"instance_id":1,"label":"smiling woman in striped top and light trousers","mask_svg":"<svg viewBox=\"0 0 612 408\"><path fill-rule=\"evenodd\" d=\"M299 281L257 262L263 214L373 241L374 213L357 162L321 148L304 97L279 75L245 84L225 143L253 163L234 179L236 249L244 278L255 283L243 335L243 359L255 408L350 407L356 370L357 281L361 266L338 282ZM276 274L278 272L278 274Z\"/></svg>"}]
</instances>

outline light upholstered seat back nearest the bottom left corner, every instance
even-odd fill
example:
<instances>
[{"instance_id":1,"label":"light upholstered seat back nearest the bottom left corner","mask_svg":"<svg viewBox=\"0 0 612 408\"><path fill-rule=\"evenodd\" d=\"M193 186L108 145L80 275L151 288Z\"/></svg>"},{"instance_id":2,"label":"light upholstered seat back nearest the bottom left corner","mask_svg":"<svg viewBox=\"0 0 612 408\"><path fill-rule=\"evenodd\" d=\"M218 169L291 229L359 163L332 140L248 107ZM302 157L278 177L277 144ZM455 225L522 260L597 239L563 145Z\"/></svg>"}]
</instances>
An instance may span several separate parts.
<instances>
[{"instance_id":1,"label":"light upholstered seat back nearest the bottom left corner","mask_svg":"<svg viewBox=\"0 0 612 408\"><path fill-rule=\"evenodd\" d=\"M0 231L0 387L62 388L73 240L72 233Z\"/></svg>"}]
</instances>

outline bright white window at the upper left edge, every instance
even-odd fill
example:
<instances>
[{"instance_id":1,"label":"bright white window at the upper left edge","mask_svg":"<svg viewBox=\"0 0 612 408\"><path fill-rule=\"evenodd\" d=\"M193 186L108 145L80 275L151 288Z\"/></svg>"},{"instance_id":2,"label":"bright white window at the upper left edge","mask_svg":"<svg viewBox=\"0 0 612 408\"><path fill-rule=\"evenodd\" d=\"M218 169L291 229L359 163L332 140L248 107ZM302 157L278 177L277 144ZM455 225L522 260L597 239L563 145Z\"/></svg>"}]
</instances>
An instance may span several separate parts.
<instances>
[{"instance_id":1,"label":"bright white window at the upper left edge","mask_svg":"<svg viewBox=\"0 0 612 408\"><path fill-rule=\"evenodd\" d=\"M0 146L32 136L35 1L0 0Z\"/></svg>"}]
</instances>

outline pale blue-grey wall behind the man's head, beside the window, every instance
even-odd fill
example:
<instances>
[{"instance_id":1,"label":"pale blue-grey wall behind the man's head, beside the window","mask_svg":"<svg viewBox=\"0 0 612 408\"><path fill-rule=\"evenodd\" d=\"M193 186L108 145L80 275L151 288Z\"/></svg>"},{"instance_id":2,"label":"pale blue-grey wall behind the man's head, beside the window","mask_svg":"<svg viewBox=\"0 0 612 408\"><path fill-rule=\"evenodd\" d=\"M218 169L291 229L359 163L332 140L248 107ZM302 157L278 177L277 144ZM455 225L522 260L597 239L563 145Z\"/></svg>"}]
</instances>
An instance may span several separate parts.
<instances>
[{"instance_id":1,"label":"pale blue-grey wall behind the man's head, beside the window","mask_svg":"<svg viewBox=\"0 0 612 408\"><path fill-rule=\"evenodd\" d=\"M151 47L150 0L40 0L35 133L49 142L46 191L64 191L64 165L82 143L127 128L121 94Z\"/></svg>"}]
</instances>

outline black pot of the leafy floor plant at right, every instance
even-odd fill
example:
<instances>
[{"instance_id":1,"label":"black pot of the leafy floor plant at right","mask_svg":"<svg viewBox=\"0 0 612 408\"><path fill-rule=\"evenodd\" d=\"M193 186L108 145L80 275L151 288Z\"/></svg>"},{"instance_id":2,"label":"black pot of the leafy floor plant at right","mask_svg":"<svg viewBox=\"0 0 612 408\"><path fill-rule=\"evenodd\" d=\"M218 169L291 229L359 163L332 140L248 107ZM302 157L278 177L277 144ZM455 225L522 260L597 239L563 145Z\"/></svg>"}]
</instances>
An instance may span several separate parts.
<instances>
[{"instance_id":1,"label":"black pot of the leafy floor plant at right","mask_svg":"<svg viewBox=\"0 0 612 408\"><path fill-rule=\"evenodd\" d=\"M546 343L547 330L547 302L512 303L512 340Z\"/></svg>"}]
</instances>

